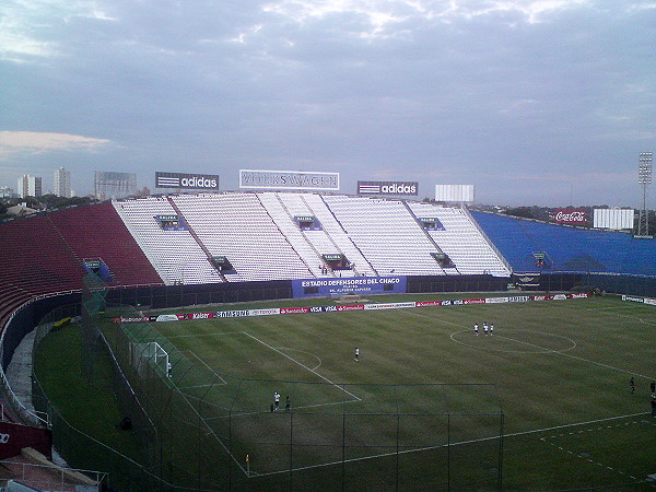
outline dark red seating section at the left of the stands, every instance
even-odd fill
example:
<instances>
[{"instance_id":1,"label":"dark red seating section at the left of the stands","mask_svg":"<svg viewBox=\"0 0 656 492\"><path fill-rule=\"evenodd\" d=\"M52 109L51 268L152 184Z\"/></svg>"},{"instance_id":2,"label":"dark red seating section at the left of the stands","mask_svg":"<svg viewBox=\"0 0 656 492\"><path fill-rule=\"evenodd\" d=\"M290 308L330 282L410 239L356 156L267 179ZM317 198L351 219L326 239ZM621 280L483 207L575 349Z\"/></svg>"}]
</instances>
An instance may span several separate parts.
<instances>
[{"instance_id":1,"label":"dark red seating section at the left of the stands","mask_svg":"<svg viewBox=\"0 0 656 492\"><path fill-rule=\"evenodd\" d=\"M103 259L109 285L162 283L108 202L15 220L0 224L0 328L36 296L80 290L85 258Z\"/></svg>"}]
</instances>

